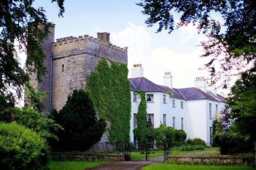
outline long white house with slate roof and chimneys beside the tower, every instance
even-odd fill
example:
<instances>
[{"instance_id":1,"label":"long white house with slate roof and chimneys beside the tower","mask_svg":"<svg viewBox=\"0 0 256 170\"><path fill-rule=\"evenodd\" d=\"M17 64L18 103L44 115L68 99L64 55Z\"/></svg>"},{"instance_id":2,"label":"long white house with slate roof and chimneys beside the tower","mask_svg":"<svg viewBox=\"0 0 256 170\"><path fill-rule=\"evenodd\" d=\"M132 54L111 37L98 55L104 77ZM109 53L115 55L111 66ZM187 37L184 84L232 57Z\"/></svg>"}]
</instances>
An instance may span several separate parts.
<instances>
[{"instance_id":1,"label":"long white house with slate roof and chimneys beside the tower","mask_svg":"<svg viewBox=\"0 0 256 170\"><path fill-rule=\"evenodd\" d=\"M224 107L224 96L217 94L215 84L198 77L195 87L176 89L172 87L171 72L164 74L164 85L156 85L143 77L141 64L134 64L131 72L131 89L146 92L148 126L157 128L162 122L166 126L183 129L187 138L200 137L208 144L212 143L212 121ZM131 141L134 141L132 130L137 127L140 97L133 91L131 96L130 135Z\"/></svg>"}]
</instances>

